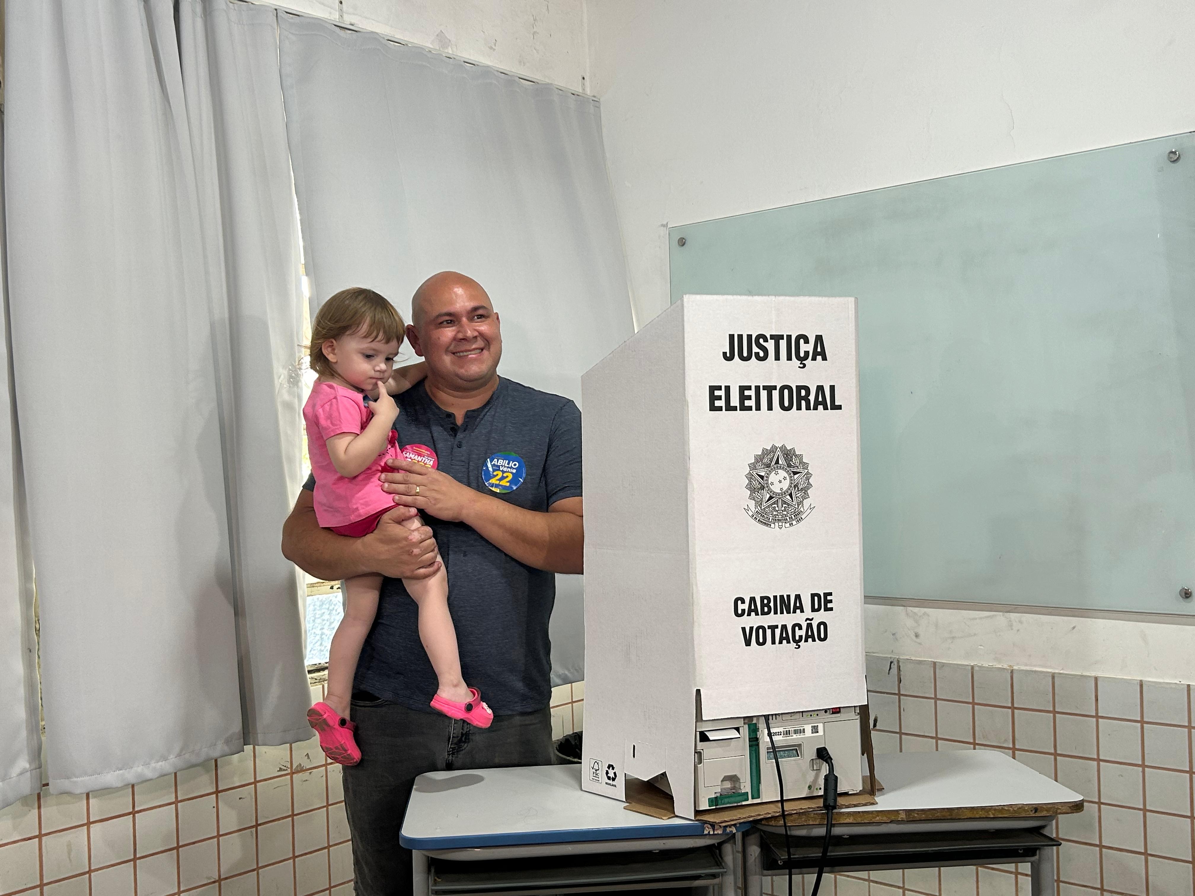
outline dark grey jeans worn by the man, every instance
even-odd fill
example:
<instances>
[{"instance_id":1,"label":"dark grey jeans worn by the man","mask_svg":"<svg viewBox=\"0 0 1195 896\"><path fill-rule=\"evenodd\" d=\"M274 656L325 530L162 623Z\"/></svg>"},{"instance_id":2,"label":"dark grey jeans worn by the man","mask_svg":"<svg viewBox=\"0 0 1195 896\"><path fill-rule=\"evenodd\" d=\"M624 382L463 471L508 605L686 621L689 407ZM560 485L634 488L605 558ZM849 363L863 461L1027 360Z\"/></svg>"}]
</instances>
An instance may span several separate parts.
<instances>
[{"instance_id":1,"label":"dark grey jeans worn by the man","mask_svg":"<svg viewBox=\"0 0 1195 896\"><path fill-rule=\"evenodd\" d=\"M544 707L495 716L483 729L366 696L353 699L361 762L344 768L355 891L409 896L411 851L399 846L398 834L415 779L424 772L553 765L552 714Z\"/></svg>"}]
</instances>

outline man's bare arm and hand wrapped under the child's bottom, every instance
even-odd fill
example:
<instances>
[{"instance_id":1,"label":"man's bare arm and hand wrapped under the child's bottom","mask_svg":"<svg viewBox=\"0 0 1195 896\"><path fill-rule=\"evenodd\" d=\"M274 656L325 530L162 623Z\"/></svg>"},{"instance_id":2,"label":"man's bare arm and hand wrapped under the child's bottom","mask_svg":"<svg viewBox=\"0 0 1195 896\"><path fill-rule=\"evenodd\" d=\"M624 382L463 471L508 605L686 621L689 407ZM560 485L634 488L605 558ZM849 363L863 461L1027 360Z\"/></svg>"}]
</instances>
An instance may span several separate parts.
<instances>
[{"instance_id":1,"label":"man's bare arm and hand wrapped under the child's bottom","mask_svg":"<svg viewBox=\"0 0 1195 896\"><path fill-rule=\"evenodd\" d=\"M429 578L440 569L431 529L422 526L411 532L399 520L413 514L403 508L399 511L384 516L369 535L345 538L320 528L312 492L304 489L282 526L282 556L312 576L329 581L368 572L390 578Z\"/></svg>"}]
</instances>

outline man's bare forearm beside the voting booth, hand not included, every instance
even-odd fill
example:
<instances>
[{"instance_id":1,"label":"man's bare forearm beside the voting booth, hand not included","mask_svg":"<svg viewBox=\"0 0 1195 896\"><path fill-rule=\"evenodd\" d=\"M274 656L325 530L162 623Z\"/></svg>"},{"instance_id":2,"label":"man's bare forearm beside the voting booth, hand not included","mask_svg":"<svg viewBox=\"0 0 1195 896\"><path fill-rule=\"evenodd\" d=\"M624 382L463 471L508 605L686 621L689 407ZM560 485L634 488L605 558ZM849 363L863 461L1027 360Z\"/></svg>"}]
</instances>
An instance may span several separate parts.
<instances>
[{"instance_id":1,"label":"man's bare forearm beside the voting booth, hand not included","mask_svg":"<svg viewBox=\"0 0 1195 896\"><path fill-rule=\"evenodd\" d=\"M584 520L581 498L565 498L549 513L525 510L477 492L461 522L477 529L486 541L520 563L549 572L581 572Z\"/></svg>"}]
</instances>

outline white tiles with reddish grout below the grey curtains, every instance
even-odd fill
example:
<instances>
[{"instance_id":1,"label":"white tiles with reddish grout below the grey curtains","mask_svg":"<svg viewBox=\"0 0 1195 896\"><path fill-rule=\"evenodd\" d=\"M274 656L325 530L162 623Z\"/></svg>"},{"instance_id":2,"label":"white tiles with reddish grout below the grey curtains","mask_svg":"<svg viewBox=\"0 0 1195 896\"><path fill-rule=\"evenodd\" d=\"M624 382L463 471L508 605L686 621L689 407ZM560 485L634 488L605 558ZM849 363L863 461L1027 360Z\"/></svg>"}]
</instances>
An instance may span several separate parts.
<instances>
[{"instance_id":1,"label":"white tiles with reddish grout below the grey curtains","mask_svg":"<svg viewBox=\"0 0 1195 896\"><path fill-rule=\"evenodd\" d=\"M582 695L552 692L557 736L580 729ZM350 896L351 879L341 767L317 739L0 811L2 896Z\"/></svg>"}]
</instances>

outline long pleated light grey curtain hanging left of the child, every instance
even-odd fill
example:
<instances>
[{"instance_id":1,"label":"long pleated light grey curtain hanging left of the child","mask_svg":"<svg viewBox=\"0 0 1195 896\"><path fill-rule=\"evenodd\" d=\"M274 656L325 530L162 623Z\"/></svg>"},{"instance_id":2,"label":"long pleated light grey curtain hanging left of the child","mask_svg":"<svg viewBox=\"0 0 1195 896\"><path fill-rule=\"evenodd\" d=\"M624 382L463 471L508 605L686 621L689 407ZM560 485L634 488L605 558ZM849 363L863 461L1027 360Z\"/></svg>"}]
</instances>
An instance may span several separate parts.
<instances>
[{"instance_id":1,"label":"long pleated light grey curtain hanging left of the child","mask_svg":"<svg viewBox=\"0 0 1195 896\"><path fill-rule=\"evenodd\" d=\"M278 551L301 306L276 19L177 6L7 5L13 367L56 792L308 734Z\"/></svg>"}]
</instances>

